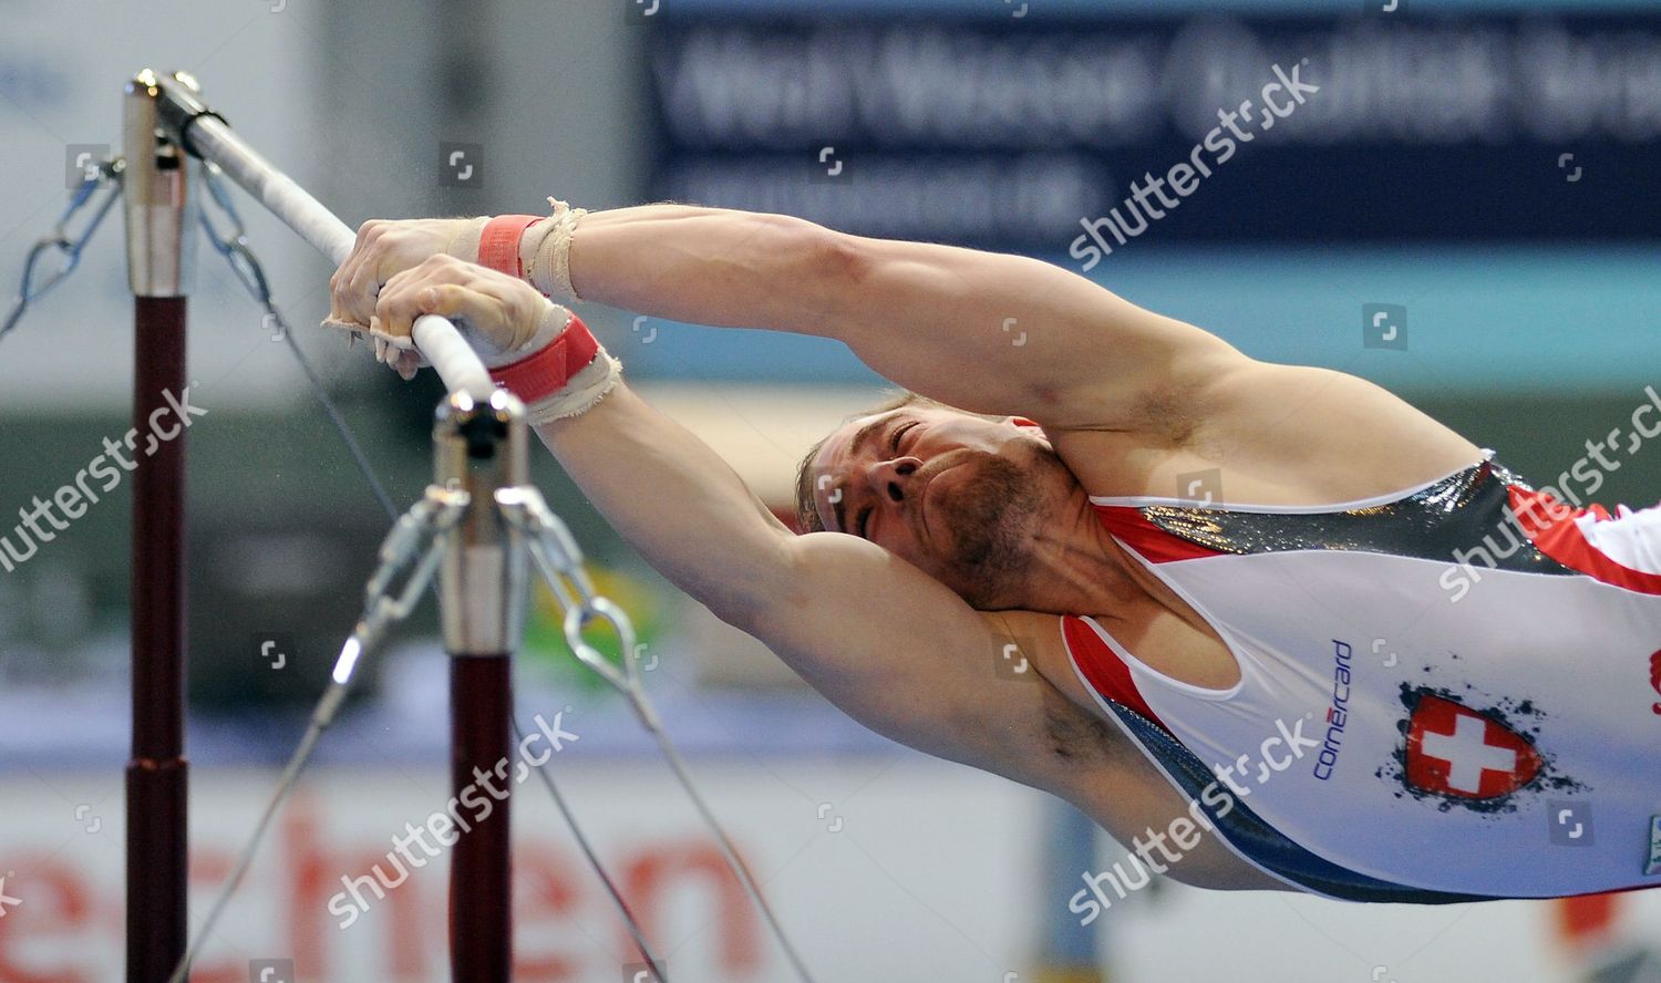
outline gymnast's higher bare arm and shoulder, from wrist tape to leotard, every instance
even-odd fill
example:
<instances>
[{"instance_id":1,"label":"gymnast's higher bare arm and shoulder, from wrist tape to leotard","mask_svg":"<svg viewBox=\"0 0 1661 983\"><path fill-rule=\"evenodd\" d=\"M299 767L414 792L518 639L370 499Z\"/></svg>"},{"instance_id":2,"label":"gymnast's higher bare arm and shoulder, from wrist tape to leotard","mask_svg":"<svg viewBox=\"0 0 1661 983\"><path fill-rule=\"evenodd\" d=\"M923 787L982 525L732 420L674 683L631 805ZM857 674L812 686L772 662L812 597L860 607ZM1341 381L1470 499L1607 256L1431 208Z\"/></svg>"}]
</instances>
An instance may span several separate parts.
<instances>
[{"instance_id":1,"label":"gymnast's higher bare arm and shoulder, from wrist tape to leotard","mask_svg":"<svg viewBox=\"0 0 1661 983\"><path fill-rule=\"evenodd\" d=\"M1477 460L1470 442L1369 382L1256 362L1036 259L654 204L585 218L571 279L585 299L643 314L839 339L924 395L1043 423L1093 490L1174 487L1118 463L1098 472L1120 462L1103 453L1120 437L1156 450L1141 465L1176 473L1218 460L1194 447L1229 448L1231 488L1262 501L1289 485L1292 501L1360 498ZM1287 412L1289 397L1302 412ZM1365 463L1327 463L1354 458L1357 440ZM1186 457L1171 457L1178 447Z\"/></svg>"}]
</instances>

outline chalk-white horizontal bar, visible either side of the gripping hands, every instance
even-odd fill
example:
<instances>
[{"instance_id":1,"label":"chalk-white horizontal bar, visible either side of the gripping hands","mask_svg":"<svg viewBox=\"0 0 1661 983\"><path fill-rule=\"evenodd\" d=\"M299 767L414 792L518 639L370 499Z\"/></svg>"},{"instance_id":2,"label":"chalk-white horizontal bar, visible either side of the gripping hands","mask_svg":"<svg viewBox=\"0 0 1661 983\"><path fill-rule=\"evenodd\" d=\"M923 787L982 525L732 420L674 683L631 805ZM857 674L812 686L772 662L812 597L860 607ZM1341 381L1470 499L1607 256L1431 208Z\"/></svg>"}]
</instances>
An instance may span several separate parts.
<instances>
[{"instance_id":1,"label":"chalk-white horizontal bar, visible either side of the gripping hands","mask_svg":"<svg viewBox=\"0 0 1661 983\"><path fill-rule=\"evenodd\" d=\"M203 159L219 164L226 176L257 198L271 214L299 232L314 249L336 264L350 256L357 234L292 178L254 153L243 138L231 133L229 126L213 116L201 116L191 125L189 141ZM477 400L490 399L495 389L490 372L453 324L429 314L415 322L410 334L415 347L439 370L439 379L443 379L450 392L467 392Z\"/></svg>"}]
</instances>

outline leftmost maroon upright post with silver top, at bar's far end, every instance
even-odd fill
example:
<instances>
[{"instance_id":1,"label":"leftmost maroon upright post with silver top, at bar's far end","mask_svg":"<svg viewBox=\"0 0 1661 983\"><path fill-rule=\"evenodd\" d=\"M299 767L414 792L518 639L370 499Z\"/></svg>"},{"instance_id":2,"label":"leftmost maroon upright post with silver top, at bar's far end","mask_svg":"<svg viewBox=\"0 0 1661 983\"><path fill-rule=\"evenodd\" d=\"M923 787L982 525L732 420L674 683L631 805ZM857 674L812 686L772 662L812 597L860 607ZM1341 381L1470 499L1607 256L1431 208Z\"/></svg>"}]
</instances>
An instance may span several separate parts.
<instances>
[{"instance_id":1,"label":"leftmost maroon upright post with silver top, at bar's far end","mask_svg":"<svg viewBox=\"0 0 1661 983\"><path fill-rule=\"evenodd\" d=\"M123 196L133 287L133 757L126 765L126 980L166 983L186 945L184 312L189 161L156 131L156 76L126 86ZM166 413L163 413L166 410ZM151 415L171 440L148 442Z\"/></svg>"}]
</instances>

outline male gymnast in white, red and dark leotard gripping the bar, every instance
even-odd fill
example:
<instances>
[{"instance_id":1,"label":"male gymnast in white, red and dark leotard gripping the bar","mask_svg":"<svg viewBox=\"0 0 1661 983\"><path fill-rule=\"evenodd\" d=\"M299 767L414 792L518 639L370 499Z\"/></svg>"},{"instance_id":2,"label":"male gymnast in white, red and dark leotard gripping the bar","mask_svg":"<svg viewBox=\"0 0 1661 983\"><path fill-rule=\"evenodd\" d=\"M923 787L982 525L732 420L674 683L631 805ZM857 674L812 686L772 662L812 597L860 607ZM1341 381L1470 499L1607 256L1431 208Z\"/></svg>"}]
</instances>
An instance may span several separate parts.
<instances>
[{"instance_id":1,"label":"male gymnast in white, red and dark leotard gripping the bar","mask_svg":"<svg viewBox=\"0 0 1661 983\"><path fill-rule=\"evenodd\" d=\"M915 395L814 448L797 535L578 299L832 337ZM367 223L331 322L409 377L420 314L716 616L1153 870L1415 903L1661 885L1661 508L1536 492L1370 382L1035 259L782 216Z\"/></svg>"}]
</instances>

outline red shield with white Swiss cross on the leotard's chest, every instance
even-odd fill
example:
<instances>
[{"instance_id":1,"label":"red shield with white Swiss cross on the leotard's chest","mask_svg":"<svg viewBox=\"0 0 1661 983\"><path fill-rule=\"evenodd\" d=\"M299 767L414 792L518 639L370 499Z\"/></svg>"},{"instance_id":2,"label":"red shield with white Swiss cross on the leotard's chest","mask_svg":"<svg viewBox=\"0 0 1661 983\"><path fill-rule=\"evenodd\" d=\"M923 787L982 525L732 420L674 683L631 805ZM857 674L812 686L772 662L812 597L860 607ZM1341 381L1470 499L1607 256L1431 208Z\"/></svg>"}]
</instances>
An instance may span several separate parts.
<instances>
[{"instance_id":1,"label":"red shield with white Swiss cross on the leotard's chest","mask_svg":"<svg viewBox=\"0 0 1661 983\"><path fill-rule=\"evenodd\" d=\"M1458 799L1500 799L1535 780L1540 752L1488 714L1422 692L1407 726L1407 784Z\"/></svg>"}]
</instances>

